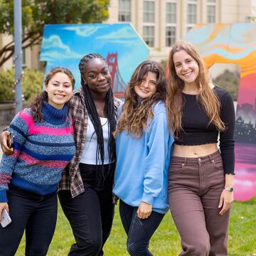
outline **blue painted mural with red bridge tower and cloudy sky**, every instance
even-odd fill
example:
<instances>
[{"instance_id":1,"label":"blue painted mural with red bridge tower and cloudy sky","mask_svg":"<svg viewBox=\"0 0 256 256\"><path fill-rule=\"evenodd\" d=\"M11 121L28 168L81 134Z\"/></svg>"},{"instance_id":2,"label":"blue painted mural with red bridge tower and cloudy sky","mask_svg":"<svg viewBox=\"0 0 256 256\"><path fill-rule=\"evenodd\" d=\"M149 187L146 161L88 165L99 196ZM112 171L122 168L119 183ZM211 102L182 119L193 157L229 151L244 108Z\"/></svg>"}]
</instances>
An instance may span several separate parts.
<instances>
[{"instance_id":1,"label":"blue painted mural with red bridge tower and cloudy sky","mask_svg":"<svg viewBox=\"0 0 256 256\"><path fill-rule=\"evenodd\" d=\"M149 48L129 23L47 25L43 32L41 61L46 73L56 66L69 68L80 87L78 63L87 53L107 59L114 94L123 97L134 69L149 58Z\"/></svg>"}]
</instances>

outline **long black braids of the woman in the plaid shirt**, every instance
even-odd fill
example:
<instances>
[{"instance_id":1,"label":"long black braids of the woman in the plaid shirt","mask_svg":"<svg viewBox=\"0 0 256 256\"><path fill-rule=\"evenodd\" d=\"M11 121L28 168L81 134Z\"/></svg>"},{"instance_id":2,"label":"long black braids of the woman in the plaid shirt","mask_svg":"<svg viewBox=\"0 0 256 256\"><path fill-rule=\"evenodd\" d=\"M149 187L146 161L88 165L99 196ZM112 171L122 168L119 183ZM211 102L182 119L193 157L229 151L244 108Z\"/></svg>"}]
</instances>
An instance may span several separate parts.
<instances>
[{"instance_id":1,"label":"long black braids of the woman in the plaid shirt","mask_svg":"<svg viewBox=\"0 0 256 256\"><path fill-rule=\"evenodd\" d=\"M96 164L101 161L101 164L104 164L105 152L104 152L104 140L103 140L103 132L102 132L102 124L100 122L100 117L97 113L97 109L95 106L95 102L92 99L92 94L90 92L87 83L84 80L83 74L85 73L85 67L87 63L95 58L99 58L101 60L105 60L102 55L98 53L89 53L82 57L79 63L79 69L81 74L81 85L85 93L85 107L87 112L90 116L92 121L93 127L95 128L95 132L97 135L97 151L96 151ZM116 116L114 114L114 95L112 89L107 91L106 98L105 98L105 114L108 119L108 127L109 127L109 141L108 141L108 151L109 151L109 158L110 163L116 160L115 154L115 142L113 137L113 132L116 128Z\"/></svg>"}]
</instances>

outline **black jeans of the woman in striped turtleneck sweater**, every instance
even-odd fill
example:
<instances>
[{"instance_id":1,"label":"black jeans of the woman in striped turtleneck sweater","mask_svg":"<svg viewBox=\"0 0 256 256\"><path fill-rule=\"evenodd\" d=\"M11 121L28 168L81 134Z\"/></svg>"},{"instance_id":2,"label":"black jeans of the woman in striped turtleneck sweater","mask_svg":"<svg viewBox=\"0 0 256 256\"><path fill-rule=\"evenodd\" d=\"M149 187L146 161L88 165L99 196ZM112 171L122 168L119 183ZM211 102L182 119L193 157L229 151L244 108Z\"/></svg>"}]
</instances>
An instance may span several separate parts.
<instances>
[{"instance_id":1,"label":"black jeans of the woman in striped turtleneck sweater","mask_svg":"<svg viewBox=\"0 0 256 256\"><path fill-rule=\"evenodd\" d=\"M46 255L57 220L57 194L41 196L9 185L11 224L0 225L0 255L13 256L26 230L26 255Z\"/></svg>"}]
</instances>

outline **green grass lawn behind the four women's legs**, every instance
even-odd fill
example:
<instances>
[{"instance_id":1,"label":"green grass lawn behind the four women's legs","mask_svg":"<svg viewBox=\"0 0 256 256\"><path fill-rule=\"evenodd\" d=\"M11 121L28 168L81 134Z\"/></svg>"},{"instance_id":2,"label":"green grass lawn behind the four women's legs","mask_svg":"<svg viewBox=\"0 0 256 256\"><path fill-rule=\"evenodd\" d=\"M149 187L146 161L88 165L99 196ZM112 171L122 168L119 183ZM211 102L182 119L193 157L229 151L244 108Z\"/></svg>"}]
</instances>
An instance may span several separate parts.
<instances>
[{"instance_id":1,"label":"green grass lawn behind the four women's legs","mask_svg":"<svg viewBox=\"0 0 256 256\"><path fill-rule=\"evenodd\" d=\"M73 242L73 234L68 220L66 220L63 211L59 207L58 223L48 255L68 255L70 245ZM23 240L16 255L24 255L24 247L25 242ZM256 256L256 197L251 201L233 203L228 249L229 256ZM166 214L158 230L156 230L153 238L151 238L150 250L154 255L161 256L176 256L181 251L180 238L170 213ZM119 218L118 206L116 207L112 233L105 245L105 255L128 255L126 250L126 234Z\"/></svg>"}]
</instances>

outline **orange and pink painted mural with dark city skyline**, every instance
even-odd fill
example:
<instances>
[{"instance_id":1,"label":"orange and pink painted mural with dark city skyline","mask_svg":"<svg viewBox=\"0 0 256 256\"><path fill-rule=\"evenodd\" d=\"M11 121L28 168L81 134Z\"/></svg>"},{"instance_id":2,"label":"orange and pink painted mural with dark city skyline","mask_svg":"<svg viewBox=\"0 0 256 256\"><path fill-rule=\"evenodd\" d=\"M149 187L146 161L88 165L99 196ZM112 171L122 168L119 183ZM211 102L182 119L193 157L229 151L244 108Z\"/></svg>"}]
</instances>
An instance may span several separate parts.
<instances>
[{"instance_id":1,"label":"orange and pink painted mural with dark city skyline","mask_svg":"<svg viewBox=\"0 0 256 256\"><path fill-rule=\"evenodd\" d=\"M256 195L256 24L198 24L183 38L214 63L236 63L240 85L235 124L235 200ZM221 85L220 85L221 87Z\"/></svg>"}]
</instances>

